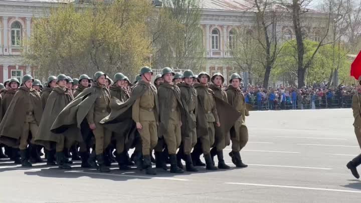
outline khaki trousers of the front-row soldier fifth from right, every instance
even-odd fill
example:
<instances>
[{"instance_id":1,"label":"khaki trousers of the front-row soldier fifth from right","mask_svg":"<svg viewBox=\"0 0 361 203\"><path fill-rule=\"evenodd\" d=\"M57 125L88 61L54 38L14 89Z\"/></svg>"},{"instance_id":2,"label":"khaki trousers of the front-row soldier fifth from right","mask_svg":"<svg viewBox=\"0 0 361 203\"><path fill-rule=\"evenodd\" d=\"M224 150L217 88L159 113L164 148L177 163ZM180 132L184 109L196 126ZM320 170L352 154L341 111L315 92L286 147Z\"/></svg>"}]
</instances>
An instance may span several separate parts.
<instances>
[{"instance_id":1,"label":"khaki trousers of the front-row soldier fifth from right","mask_svg":"<svg viewBox=\"0 0 361 203\"><path fill-rule=\"evenodd\" d=\"M169 134L163 136L168 148L168 154L175 154L177 148L180 145L180 141L182 140L182 135L180 134L180 125L169 123L167 129Z\"/></svg>"}]
</instances>

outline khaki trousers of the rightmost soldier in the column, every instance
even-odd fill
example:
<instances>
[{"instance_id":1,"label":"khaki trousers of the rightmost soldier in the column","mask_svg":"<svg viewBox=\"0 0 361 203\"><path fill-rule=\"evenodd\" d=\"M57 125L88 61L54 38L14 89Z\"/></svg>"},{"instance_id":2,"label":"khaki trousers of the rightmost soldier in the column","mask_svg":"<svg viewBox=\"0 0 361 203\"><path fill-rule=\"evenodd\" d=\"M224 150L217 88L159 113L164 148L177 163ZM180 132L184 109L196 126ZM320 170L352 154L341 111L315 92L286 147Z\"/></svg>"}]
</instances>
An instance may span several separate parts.
<instances>
[{"instance_id":1,"label":"khaki trousers of the rightmost soldier in the column","mask_svg":"<svg viewBox=\"0 0 361 203\"><path fill-rule=\"evenodd\" d=\"M242 125L242 121L239 119L235 125L235 136L231 137L232 140L232 151L241 151L248 142L248 129L247 126Z\"/></svg>"}]
</instances>

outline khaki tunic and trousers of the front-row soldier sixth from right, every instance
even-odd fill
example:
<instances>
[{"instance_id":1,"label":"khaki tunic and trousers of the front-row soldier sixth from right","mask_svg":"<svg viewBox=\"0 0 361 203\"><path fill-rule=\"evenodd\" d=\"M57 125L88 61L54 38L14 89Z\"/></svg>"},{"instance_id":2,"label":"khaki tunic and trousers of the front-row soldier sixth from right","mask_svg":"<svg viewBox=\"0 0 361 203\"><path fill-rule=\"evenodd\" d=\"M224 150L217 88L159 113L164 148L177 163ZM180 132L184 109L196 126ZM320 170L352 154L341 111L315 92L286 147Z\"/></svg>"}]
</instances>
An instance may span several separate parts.
<instances>
[{"instance_id":1,"label":"khaki tunic and trousers of the front-row soldier sixth from right","mask_svg":"<svg viewBox=\"0 0 361 203\"><path fill-rule=\"evenodd\" d=\"M142 140L142 153L149 155L157 144L157 110L155 107L155 95L151 86L147 87L144 94L135 100L132 106L132 118L139 122L142 129L138 129Z\"/></svg>"}]
</instances>

